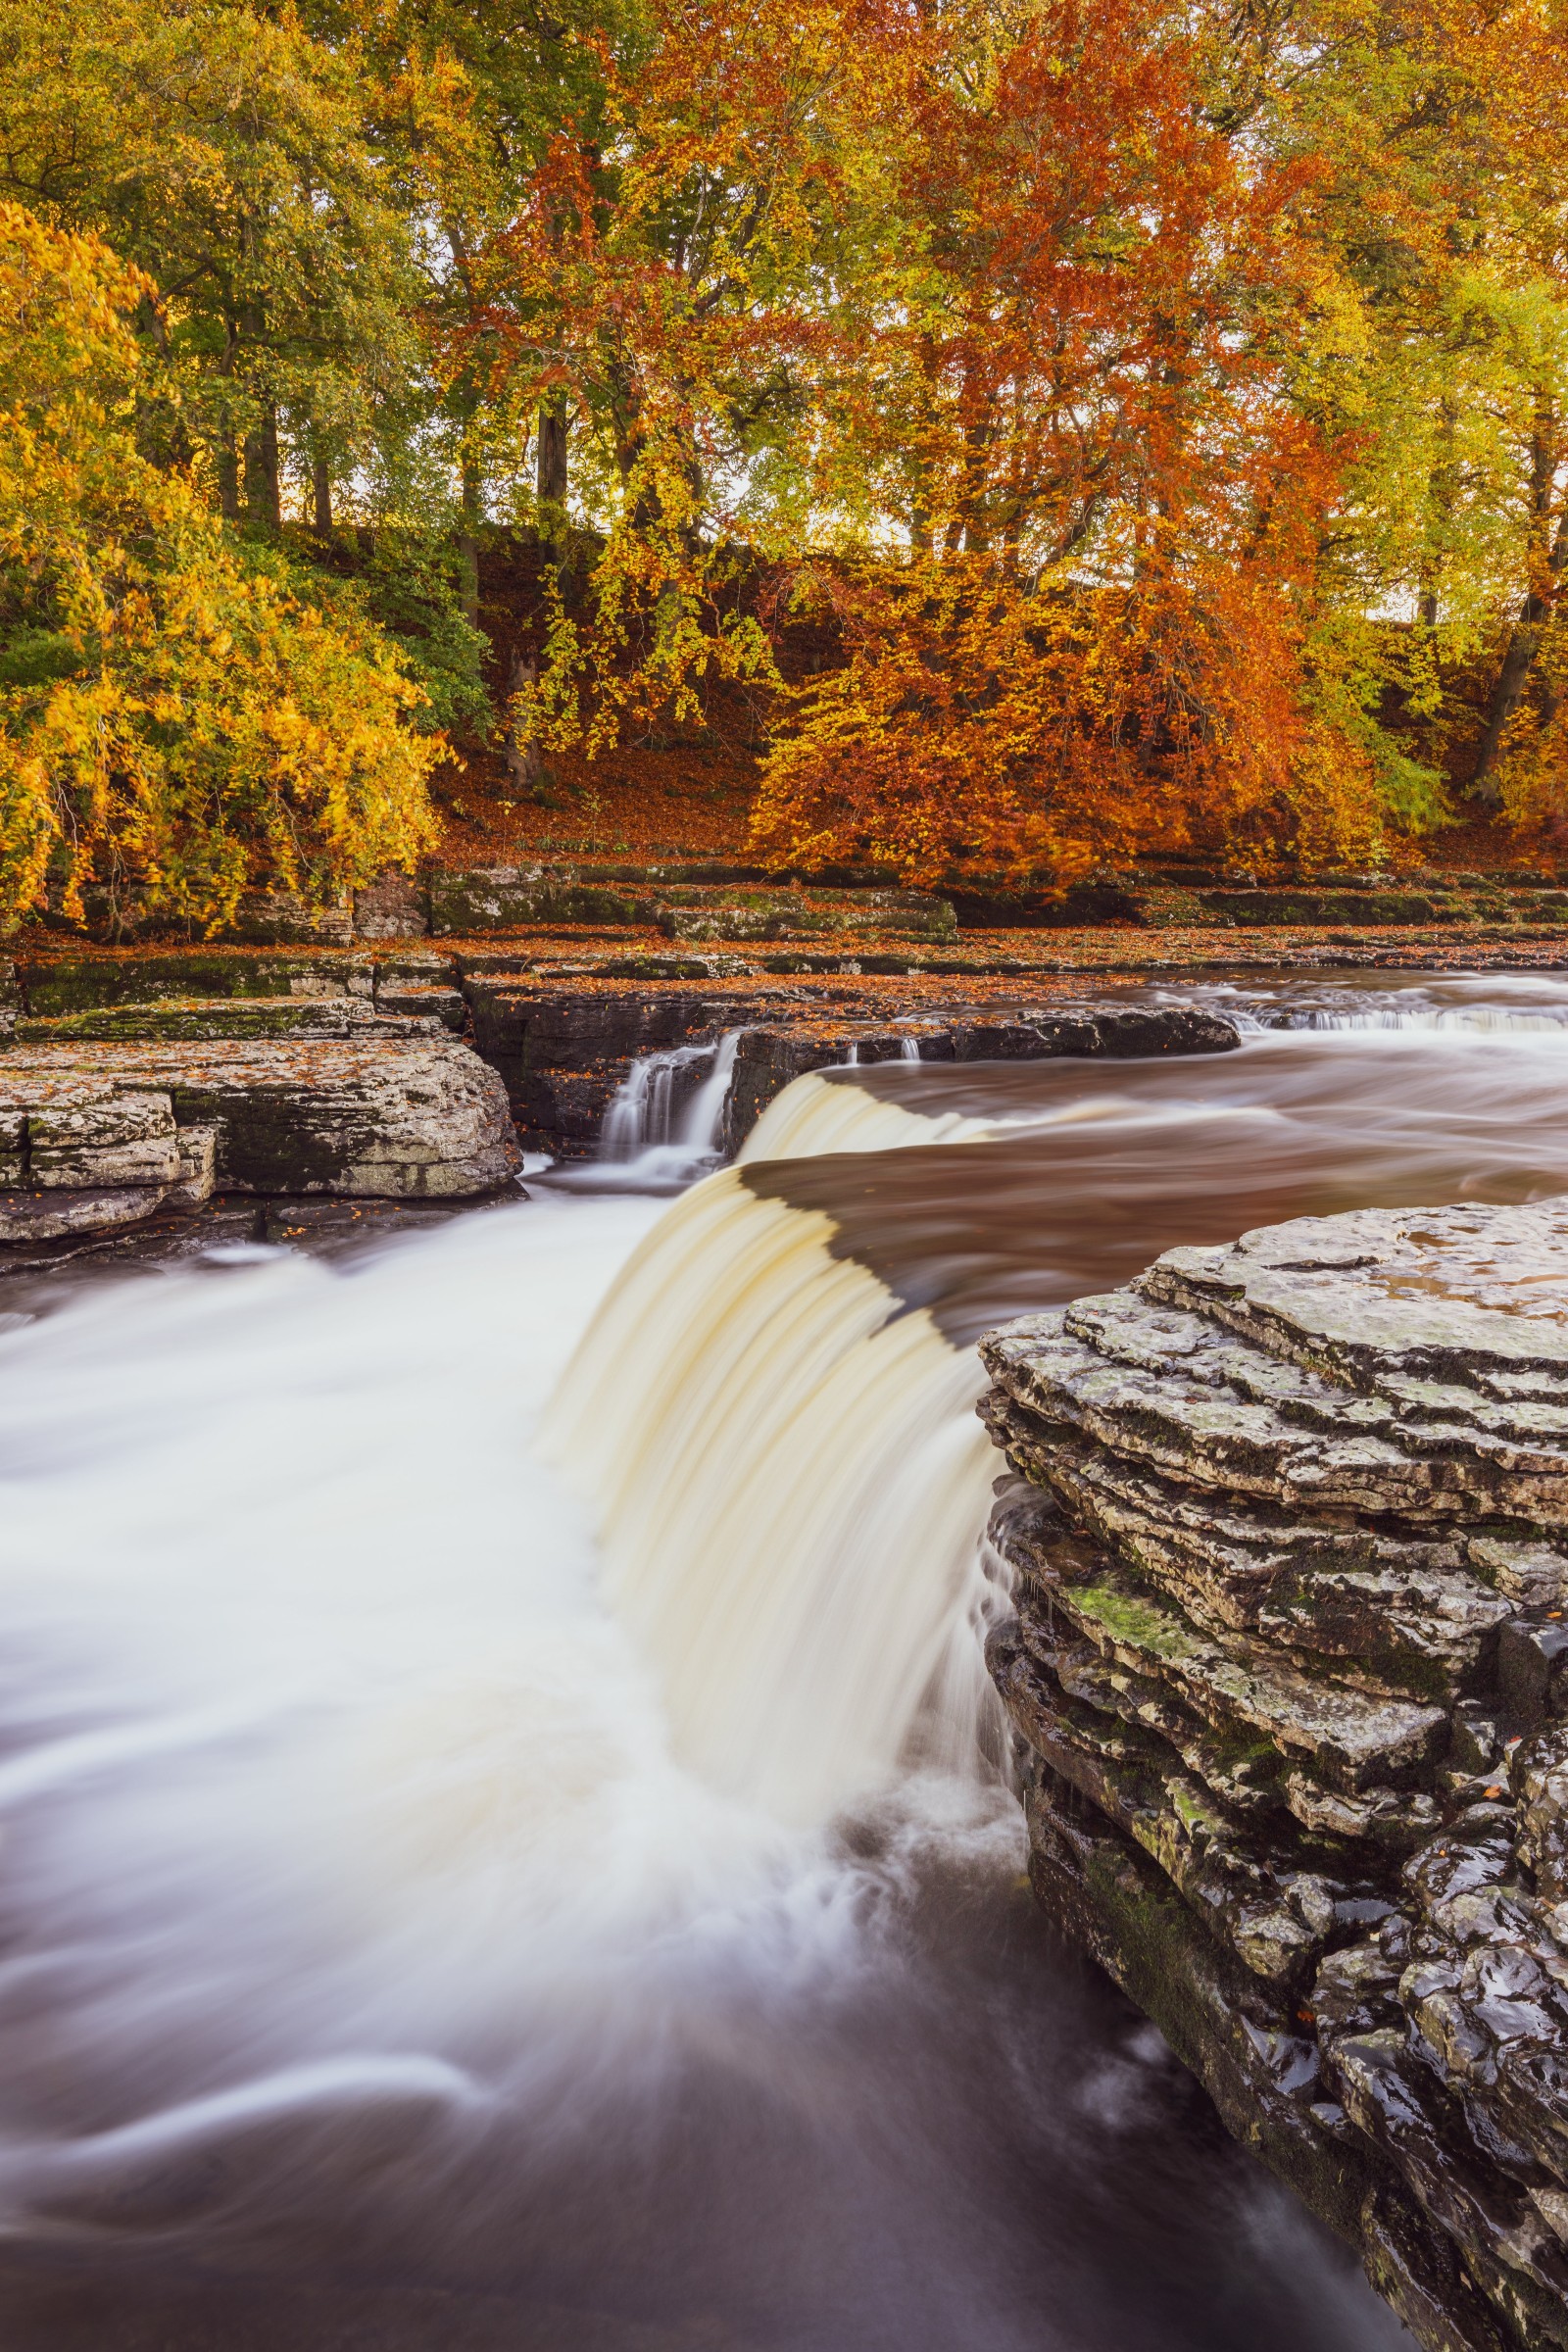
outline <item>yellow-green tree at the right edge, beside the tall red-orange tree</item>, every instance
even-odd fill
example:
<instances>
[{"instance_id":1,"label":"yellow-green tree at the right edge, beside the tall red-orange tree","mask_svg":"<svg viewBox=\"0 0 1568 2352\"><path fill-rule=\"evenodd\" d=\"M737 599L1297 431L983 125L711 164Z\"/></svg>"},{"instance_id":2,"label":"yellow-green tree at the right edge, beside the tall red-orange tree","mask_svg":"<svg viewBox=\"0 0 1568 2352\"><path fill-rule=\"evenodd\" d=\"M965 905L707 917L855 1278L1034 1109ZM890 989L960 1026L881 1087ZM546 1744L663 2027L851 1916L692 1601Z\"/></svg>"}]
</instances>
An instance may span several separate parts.
<instances>
[{"instance_id":1,"label":"yellow-green tree at the right edge, beside the tall red-orange tree","mask_svg":"<svg viewBox=\"0 0 1568 2352\"><path fill-rule=\"evenodd\" d=\"M1321 278L1291 397L1345 461L1319 654L1399 807L1439 814L1443 771L1497 807L1509 729L1516 755L1552 701L1568 553L1568 21L1286 0L1215 7L1204 42L1215 127L1309 162Z\"/></svg>"}]
</instances>

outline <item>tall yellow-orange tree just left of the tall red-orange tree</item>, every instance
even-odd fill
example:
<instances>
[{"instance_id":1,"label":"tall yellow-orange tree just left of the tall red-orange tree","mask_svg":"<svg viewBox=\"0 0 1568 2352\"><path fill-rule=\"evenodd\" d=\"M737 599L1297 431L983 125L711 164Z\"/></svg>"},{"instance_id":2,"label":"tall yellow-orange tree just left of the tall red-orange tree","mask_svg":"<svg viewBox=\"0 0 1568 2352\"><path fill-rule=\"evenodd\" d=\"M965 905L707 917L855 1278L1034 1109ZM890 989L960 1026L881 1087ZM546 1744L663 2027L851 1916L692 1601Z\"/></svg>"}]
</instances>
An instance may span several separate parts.
<instances>
[{"instance_id":1,"label":"tall yellow-orange tree just left of the tall red-orange tree","mask_svg":"<svg viewBox=\"0 0 1568 2352\"><path fill-rule=\"evenodd\" d=\"M797 360L823 336L851 40L827 0L651 7L595 120L562 127L487 245L461 355L482 346L498 402L569 423L590 529L524 696L545 746L597 755L696 720L715 680L773 675L743 590L806 522L780 480L811 430Z\"/></svg>"}]
</instances>

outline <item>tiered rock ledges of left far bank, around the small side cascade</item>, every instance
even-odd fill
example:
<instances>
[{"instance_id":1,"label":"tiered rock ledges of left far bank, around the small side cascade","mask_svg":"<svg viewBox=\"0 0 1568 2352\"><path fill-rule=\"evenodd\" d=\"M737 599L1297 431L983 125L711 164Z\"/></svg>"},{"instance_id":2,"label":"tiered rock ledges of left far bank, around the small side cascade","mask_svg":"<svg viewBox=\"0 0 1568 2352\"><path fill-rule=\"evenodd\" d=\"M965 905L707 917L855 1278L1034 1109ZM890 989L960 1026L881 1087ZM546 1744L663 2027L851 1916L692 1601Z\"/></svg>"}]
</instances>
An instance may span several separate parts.
<instances>
[{"instance_id":1,"label":"tiered rock ledges of left far bank, around the small side cascade","mask_svg":"<svg viewBox=\"0 0 1568 2352\"><path fill-rule=\"evenodd\" d=\"M0 962L0 1242L106 1232L214 1188L473 1197L505 1183L522 1148L590 1155L639 1056L682 1056L682 1084L693 1084L703 1049L712 1061L733 1030L729 1150L792 1077L835 1061L1237 1042L1211 1014L1095 1009L1070 1002L1063 981L1037 985L1034 1002L1013 988L1011 1002L954 1004L952 983L919 990L889 976L693 985L552 974L534 948L28 943ZM82 1117L96 1105L68 1174L47 1141L66 1101ZM165 1141L148 1129L132 1150L134 1120Z\"/></svg>"}]
</instances>

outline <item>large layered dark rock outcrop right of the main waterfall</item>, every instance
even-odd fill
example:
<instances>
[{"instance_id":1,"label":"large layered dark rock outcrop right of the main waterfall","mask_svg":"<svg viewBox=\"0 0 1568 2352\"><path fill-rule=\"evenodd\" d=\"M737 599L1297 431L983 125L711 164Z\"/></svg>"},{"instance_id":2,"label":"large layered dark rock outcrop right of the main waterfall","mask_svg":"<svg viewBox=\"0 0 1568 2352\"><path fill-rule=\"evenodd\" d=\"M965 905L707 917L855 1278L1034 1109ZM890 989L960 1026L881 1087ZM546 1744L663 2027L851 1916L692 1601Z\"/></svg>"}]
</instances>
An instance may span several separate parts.
<instances>
[{"instance_id":1,"label":"large layered dark rock outcrop right of the main waterfall","mask_svg":"<svg viewBox=\"0 0 1568 2352\"><path fill-rule=\"evenodd\" d=\"M1044 1905L1420 2343L1568 2347L1568 1204L983 1343Z\"/></svg>"}]
</instances>

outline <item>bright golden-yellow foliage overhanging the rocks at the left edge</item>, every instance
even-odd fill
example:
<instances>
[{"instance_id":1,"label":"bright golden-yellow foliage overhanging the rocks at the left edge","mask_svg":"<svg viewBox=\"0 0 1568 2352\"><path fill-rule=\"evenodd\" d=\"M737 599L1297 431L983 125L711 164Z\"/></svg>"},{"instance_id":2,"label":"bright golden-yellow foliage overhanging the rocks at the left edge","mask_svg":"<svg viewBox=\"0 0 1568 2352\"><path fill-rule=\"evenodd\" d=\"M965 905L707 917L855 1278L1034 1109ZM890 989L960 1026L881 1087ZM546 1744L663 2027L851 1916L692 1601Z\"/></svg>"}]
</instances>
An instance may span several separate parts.
<instances>
[{"instance_id":1,"label":"bright golden-yellow foliage overhanging the rocks at the left edge","mask_svg":"<svg viewBox=\"0 0 1568 2352\"><path fill-rule=\"evenodd\" d=\"M0 207L0 924L209 929L252 887L324 898L435 840L444 755L386 642L247 564L186 470L136 447L148 280Z\"/></svg>"}]
</instances>

